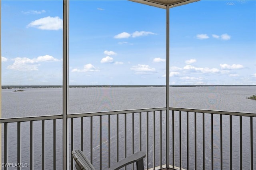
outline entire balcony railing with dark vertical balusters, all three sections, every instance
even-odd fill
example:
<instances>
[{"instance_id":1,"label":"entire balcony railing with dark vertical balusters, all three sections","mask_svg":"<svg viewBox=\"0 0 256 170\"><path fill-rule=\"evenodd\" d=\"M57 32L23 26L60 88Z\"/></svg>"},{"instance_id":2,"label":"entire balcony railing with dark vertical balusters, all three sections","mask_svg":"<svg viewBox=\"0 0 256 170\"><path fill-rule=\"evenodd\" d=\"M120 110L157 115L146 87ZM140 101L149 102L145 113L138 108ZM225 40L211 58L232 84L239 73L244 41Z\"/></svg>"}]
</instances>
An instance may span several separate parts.
<instances>
[{"instance_id":1,"label":"entire balcony railing with dark vertical balusters, all three sections","mask_svg":"<svg viewBox=\"0 0 256 170\"><path fill-rule=\"evenodd\" d=\"M99 170L138 151L146 153L147 170L255 169L256 114L169 110L168 116L166 108L69 114L68 139L63 139L62 115L1 119L2 162L27 166L23 169L62 169L62 140L67 140L69 155L83 150ZM68 160L69 169L75 169L71 156Z\"/></svg>"}]
</instances>

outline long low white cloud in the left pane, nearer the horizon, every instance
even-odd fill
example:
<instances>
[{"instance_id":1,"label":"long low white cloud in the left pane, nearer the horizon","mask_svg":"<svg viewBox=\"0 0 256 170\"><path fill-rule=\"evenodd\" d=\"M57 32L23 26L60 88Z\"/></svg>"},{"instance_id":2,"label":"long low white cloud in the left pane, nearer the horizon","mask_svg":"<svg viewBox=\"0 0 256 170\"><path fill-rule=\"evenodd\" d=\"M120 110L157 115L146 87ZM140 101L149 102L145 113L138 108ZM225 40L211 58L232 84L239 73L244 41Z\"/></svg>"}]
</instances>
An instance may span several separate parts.
<instances>
[{"instance_id":1,"label":"long low white cloud in the left pane, nearer the horizon","mask_svg":"<svg viewBox=\"0 0 256 170\"><path fill-rule=\"evenodd\" d=\"M14 58L12 59L14 61L13 64L7 66L8 69L10 70L20 70L20 71L34 71L38 70L38 64L39 62L46 62L46 61L60 61L52 56L45 55L45 56L39 56L37 58Z\"/></svg>"}]
</instances>

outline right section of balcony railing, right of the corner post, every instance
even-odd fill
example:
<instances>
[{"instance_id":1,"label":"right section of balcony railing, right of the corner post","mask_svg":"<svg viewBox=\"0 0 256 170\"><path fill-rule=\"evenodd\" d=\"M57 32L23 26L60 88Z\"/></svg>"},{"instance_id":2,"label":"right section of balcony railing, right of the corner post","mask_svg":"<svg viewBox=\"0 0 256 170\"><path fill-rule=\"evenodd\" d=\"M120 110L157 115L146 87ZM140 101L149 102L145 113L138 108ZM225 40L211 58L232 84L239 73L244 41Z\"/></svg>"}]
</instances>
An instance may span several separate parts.
<instances>
[{"instance_id":1,"label":"right section of balcony railing, right of the corner post","mask_svg":"<svg viewBox=\"0 0 256 170\"><path fill-rule=\"evenodd\" d=\"M255 142L255 137L256 134L255 133L255 129L253 128L254 126L256 127L256 114L254 113L241 113L241 112L224 112L224 111L216 111L216 110L199 110L199 109L186 109L186 108L170 108L171 112L170 114L172 115L172 168L175 167L176 161L175 161L175 150L177 149L179 151L178 156L179 156L179 161L178 161L178 167L182 167L184 169L191 169L190 168L190 160L192 160L193 162L193 167L192 169L197 169L197 165L198 165L198 145L202 146L202 154L199 155L200 160L202 161L202 166L199 167L198 169L250 169L253 170L253 167L256 166L255 163L255 158L256 156L254 155L255 151L254 149L256 148L256 142ZM175 114L176 112L176 114ZM186 120L183 121L184 123L182 123L182 115L185 115ZM194 116L194 119L191 118L191 116ZM207 129L207 125L209 126L209 124L207 124L206 122L206 115L208 116L208 120L210 121L210 130L208 130L208 133L210 133L210 144L206 145L206 129ZM225 118L223 118L225 115ZM175 117L178 118L175 118ZM190 117L189 117L190 116ZM201 116L201 119L198 119L198 116ZM215 121L214 121L214 116L215 116ZM216 117L217 116L217 117ZM232 118L239 118L239 121L234 121L232 120ZM246 122L249 123L249 127L246 127L246 130L244 130L245 132L248 132L248 134L244 133L244 131L242 130L243 125L242 125L242 119L248 117L249 120L245 120ZM179 119L179 125L178 128L175 128L174 124L175 124L175 120ZM225 124L223 124L223 121L225 120ZM254 124L253 124L254 121ZM215 123L214 123L215 122ZM236 123L236 125L239 126L239 132L236 132L236 134L234 134L234 126L232 126L232 122ZM194 124L193 130L194 132L190 131L191 126L189 125ZM228 129L229 131L229 135L224 136L223 135L223 130L224 130L224 126L226 126L226 130ZM229 125L229 126L228 126ZM199 127L200 126L200 127ZM214 126L216 126L216 128L219 131L214 131ZM186 144L182 145L182 140L184 140L182 138L182 127L186 128L186 133L184 135L184 138L186 138ZM199 141L197 139L197 136L199 136L199 129L201 129L201 135L202 135L202 139ZM174 146L175 143L175 132L178 131L178 138L179 138L179 148ZM215 132L215 137L219 136L220 141L219 141L219 145L217 146L217 144L214 144L214 132ZM193 136L190 136L190 134L193 134ZM243 135L246 135L247 138L244 138L243 141ZM235 138L237 137L238 141L239 141L239 156L234 158L233 152L234 152L234 148L232 147L232 143L236 140L234 140L233 136L235 136ZM254 136L254 137L253 137ZM192 139L191 139L192 138ZM223 144L224 144L224 138L225 140L229 140L229 148L225 148L225 151L229 152L229 162L226 161L225 164L225 168L224 168L224 158L223 158ZM254 140L253 140L254 139ZM194 140L194 155L193 158L190 159L190 151L193 150L190 147L190 140ZM236 141L237 142L237 141ZM243 152L243 142L249 143L250 146L249 148L249 153L244 153ZM216 147L214 148L214 145L216 145ZM182 146L186 147L186 159L185 159L185 166L183 166L183 161L182 161L182 152L184 150L182 150ZM206 148L210 147L210 160L208 160L208 164L206 164ZM214 157L218 157L216 155L214 155L214 150L218 150L219 152L219 159L214 159ZM250 158L249 162L250 164L247 164L247 167L244 166L243 164L243 154L247 154ZM216 160L217 165L215 164L214 160ZM238 166L234 167L232 166L234 164L234 161L232 162L232 160L235 160L236 163L239 162ZM219 164L219 165L218 165ZM207 166L208 165L208 166ZM209 166L210 165L210 166ZM229 167L228 167L229 166Z\"/></svg>"}]
</instances>

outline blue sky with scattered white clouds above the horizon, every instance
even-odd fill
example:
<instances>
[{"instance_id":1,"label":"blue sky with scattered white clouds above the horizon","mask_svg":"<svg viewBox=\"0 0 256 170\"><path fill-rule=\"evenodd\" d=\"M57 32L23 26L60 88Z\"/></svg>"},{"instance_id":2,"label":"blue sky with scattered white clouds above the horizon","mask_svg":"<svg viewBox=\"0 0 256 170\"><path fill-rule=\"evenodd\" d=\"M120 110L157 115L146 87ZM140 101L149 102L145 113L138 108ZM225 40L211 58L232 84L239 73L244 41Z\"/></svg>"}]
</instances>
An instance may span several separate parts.
<instances>
[{"instance_id":1,"label":"blue sky with scattered white clouds above the horizon","mask_svg":"<svg viewBox=\"0 0 256 170\"><path fill-rule=\"evenodd\" d=\"M62 84L62 1L1 1L2 85ZM165 85L166 11L70 1L70 85ZM256 85L256 1L170 9L171 85Z\"/></svg>"}]
</instances>

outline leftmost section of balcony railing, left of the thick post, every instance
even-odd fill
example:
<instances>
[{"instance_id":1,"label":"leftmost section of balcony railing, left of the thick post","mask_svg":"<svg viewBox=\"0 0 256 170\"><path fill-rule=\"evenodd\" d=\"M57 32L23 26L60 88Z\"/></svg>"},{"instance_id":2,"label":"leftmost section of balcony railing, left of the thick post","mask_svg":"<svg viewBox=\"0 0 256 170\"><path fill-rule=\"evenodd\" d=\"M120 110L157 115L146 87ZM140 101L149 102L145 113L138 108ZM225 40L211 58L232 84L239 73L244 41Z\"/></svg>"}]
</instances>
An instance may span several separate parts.
<instances>
[{"instance_id":1,"label":"leftmost section of balcony railing, left of the thick post","mask_svg":"<svg viewBox=\"0 0 256 170\"><path fill-rule=\"evenodd\" d=\"M22 167L27 168L29 167L30 169L34 169L36 166L34 166L34 138L41 138L41 148L36 148L36 150L41 150L41 165L42 169L49 169L49 166L45 166L45 121L46 120L52 120L52 133L53 133L53 145L51 147L51 150L53 152L53 157L52 157L52 166L50 167L53 170L56 170L56 120L61 119L62 115L58 116L37 116L37 117L25 117L25 118L5 118L1 119L1 124L4 124L4 161L2 163L2 167L4 165L4 170L7 170L9 167L13 169L14 167L17 167L18 170L20 170ZM25 122L29 122L29 127L26 132L22 133L22 125L25 124ZM35 129L39 129L40 127L34 126L34 122L40 122L41 123L41 135L39 136L38 134L34 133ZM15 123L16 123L16 129L15 128ZM9 128L9 124L11 128ZM12 158L13 162L9 162L9 150L11 149L11 152L15 152L15 149L12 144L12 148L9 147L9 134L10 131L17 131L17 139L16 139L16 152L17 152L17 157L16 160L15 158ZM14 136L11 136L11 139L13 140ZM22 140L29 141L29 155L22 154ZM62 139L60 139L62 140ZM26 158L26 162L24 162L24 157ZM29 159L27 159L29 157ZM23 158L23 159L22 159ZM40 168L41 169L41 168Z\"/></svg>"}]
</instances>

